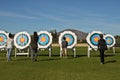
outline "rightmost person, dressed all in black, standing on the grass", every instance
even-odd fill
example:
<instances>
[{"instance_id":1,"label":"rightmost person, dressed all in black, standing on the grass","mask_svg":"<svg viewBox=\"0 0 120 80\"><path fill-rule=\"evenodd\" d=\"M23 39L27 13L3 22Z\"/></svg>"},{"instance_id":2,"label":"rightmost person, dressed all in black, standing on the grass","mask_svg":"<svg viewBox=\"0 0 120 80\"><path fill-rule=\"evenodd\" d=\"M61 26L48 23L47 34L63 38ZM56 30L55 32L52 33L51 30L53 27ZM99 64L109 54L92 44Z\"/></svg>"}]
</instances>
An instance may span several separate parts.
<instances>
[{"instance_id":1,"label":"rightmost person, dressed all in black, standing on the grass","mask_svg":"<svg viewBox=\"0 0 120 80\"><path fill-rule=\"evenodd\" d=\"M98 40L98 50L100 51L101 64L104 64L104 52L107 50L107 45L105 39L103 39L103 34L100 34L100 39Z\"/></svg>"}]
</instances>

